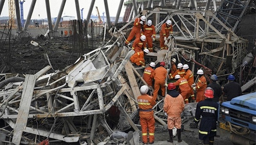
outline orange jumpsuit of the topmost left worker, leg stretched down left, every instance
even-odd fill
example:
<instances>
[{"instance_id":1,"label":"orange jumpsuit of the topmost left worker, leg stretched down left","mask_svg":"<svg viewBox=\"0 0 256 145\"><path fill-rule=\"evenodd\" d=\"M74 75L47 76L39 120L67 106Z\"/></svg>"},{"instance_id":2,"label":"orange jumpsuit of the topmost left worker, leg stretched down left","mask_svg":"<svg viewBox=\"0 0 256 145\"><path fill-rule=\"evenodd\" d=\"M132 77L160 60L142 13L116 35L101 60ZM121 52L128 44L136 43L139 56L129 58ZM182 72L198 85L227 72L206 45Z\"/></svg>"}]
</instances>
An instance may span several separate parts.
<instances>
[{"instance_id":1,"label":"orange jumpsuit of the topmost left worker, leg stretched down left","mask_svg":"<svg viewBox=\"0 0 256 145\"><path fill-rule=\"evenodd\" d=\"M143 26L139 23L140 21L141 21L140 18L135 19L133 23L132 31L129 34L127 40L125 41L126 44L128 44L133 39L134 35L136 36L136 38L140 38L141 36L140 30L141 30L141 27Z\"/></svg>"}]
</instances>

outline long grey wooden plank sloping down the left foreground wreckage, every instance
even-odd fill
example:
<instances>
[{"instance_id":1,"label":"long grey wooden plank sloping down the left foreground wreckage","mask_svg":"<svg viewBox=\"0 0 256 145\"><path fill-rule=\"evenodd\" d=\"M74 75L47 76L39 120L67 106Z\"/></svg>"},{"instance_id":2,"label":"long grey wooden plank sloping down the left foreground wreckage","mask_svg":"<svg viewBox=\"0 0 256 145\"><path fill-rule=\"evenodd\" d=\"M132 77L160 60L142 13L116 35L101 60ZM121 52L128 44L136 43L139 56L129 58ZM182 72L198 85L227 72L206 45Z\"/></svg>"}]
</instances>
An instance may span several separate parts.
<instances>
[{"instance_id":1,"label":"long grey wooden plank sloping down the left foreground wreckage","mask_svg":"<svg viewBox=\"0 0 256 145\"><path fill-rule=\"evenodd\" d=\"M12 138L12 143L15 145L20 144L23 129L26 128L35 83L36 75L26 75L25 82L23 83L24 87L21 95L16 126Z\"/></svg>"}]
</instances>

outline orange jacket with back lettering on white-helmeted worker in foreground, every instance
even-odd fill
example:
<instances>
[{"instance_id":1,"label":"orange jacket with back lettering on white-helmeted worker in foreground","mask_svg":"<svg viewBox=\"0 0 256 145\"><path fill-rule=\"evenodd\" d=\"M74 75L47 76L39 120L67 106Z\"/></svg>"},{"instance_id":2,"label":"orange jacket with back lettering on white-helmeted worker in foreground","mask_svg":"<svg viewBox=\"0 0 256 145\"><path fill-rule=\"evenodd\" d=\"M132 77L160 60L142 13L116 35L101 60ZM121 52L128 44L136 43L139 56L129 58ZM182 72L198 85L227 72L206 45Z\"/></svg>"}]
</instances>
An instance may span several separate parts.
<instances>
[{"instance_id":1,"label":"orange jacket with back lettering on white-helmeted worker in foreground","mask_svg":"<svg viewBox=\"0 0 256 145\"><path fill-rule=\"evenodd\" d=\"M138 104L139 104L139 116L153 116L154 111L150 111L149 109L152 109L156 102L154 101L152 96L149 96L147 94L140 95L138 97Z\"/></svg>"}]
</instances>

